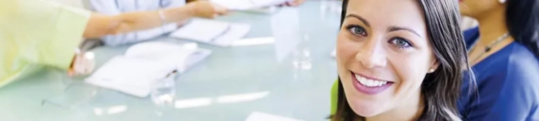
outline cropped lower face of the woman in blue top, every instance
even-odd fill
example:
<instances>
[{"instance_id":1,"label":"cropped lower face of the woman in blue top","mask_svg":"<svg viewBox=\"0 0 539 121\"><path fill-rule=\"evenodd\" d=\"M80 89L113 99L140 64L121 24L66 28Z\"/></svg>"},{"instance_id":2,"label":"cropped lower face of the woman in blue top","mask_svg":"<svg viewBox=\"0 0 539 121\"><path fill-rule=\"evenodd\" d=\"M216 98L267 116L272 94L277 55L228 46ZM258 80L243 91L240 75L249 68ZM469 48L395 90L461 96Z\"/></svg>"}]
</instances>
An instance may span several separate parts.
<instances>
[{"instance_id":1,"label":"cropped lower face of the woman in blue top","mask_svg":"<svg viewBox=\"0 0 539 121\"><path fill-rule=\"evenodd\" d=\"M459 0L460 14L477 18L496 8L502 6L498 0Z\"/></svg>"}]
</instances>

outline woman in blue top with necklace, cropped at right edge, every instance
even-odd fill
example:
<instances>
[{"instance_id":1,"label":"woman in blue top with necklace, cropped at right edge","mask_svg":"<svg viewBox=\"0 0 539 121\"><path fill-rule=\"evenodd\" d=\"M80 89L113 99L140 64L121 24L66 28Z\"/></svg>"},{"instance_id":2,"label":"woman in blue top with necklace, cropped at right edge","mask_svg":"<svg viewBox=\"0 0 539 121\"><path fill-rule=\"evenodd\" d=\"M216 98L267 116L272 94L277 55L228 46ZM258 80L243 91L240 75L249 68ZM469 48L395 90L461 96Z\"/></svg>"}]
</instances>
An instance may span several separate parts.
<instances>
[{"instance_id":1,"label":"woman in blue top with necklace, cropped at right edge","mask_svg":"<svg viewBox=\"0 0 539 121\"><path fill-rule=\"evenodd\" d=\"M478 28L464 32L476 84L464 81L464 120L539 120L539 2L460 0Z\"/></svg>"}]
</instances>

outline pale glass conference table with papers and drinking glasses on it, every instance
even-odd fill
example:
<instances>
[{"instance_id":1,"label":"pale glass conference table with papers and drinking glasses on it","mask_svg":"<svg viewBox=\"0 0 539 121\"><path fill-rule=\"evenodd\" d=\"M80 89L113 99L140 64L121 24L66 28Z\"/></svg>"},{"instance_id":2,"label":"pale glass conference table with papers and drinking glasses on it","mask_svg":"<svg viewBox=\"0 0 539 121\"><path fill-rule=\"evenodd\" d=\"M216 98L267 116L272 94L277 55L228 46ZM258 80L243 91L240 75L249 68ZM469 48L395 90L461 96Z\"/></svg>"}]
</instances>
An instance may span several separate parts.
<instances>
[{"instance_id":1,"label":"pale glass conference table with papers and drinking glasses on it","mask_svg":"<svg viewBox=\"0 0 539 121\"><path fill-rule=\"evenodd\" d=\"M0 89L0 120L327 120L337 65L330 55L340 1L308 1L272 13L232 12L216 18L245 23L244 37L273 42L218 47L175 80L173 103L84 83L85 76L44 66ZM211 29L211 28L208 28ZM149 41L191 41L158 37ZM101 46L97 67L131 45Z\"/></svg>"}]
</instances>

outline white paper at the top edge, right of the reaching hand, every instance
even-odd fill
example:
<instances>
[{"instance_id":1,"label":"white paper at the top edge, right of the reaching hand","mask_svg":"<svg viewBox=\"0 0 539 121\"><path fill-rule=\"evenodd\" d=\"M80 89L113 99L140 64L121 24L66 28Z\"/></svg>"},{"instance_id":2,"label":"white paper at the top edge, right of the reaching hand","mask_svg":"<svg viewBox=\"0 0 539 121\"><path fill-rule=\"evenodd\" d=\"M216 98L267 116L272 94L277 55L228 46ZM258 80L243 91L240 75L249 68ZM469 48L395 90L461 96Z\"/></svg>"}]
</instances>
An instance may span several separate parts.
<instances>
[{"instance_id":1,"label":"white paper at the top edge, right of the reaching hand","mask_svg":"<svg viewBox=\"0 0 539 121\"><path fill-rule=\"evenodd\" d=\"M276 6L286 1L291 0L210 0L220 6L224 6L229 10L252 10L257 8L265 8Z\"/></svg>"}]
</instances>

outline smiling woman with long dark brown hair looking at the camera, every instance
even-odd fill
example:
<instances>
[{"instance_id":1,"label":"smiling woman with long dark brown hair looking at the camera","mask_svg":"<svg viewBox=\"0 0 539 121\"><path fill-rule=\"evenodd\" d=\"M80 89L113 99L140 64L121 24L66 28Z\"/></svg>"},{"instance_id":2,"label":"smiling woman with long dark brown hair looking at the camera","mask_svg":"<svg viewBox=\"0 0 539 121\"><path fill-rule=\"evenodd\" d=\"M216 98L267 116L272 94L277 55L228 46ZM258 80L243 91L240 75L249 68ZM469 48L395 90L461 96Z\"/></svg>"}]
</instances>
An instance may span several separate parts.
<instances>
[{"instance_id":1,"label":"smiling woman with long dark brown hair looking at the camera","mask_svg":"<svg viewBox=\"0 0 539 121\"><path fill-rule=\"evenodd\" d=\"M472 73L457 1L344 0L342 14L332 120L460 120Z\"/></svg>"}]
</instances>

